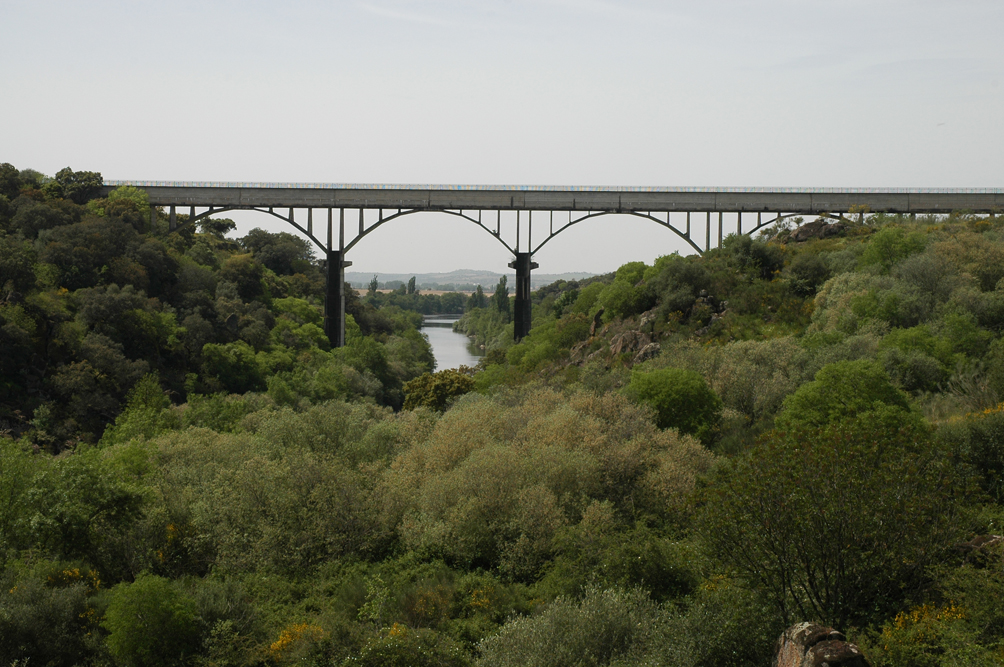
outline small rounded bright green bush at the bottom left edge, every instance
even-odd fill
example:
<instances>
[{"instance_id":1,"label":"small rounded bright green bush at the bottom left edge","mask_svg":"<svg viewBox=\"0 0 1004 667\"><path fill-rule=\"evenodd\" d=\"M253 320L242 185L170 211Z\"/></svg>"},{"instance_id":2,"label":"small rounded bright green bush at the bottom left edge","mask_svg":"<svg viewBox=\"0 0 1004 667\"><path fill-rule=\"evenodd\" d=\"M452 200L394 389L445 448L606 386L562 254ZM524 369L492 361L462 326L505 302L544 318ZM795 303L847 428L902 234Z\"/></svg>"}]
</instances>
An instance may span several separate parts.
<instances>
[{"instance_id":1,"label":"small rounded bright green bush at the bottom left edge","mask_svg":"<svg viewBox=\"0 0 1004 667\"><path fill-rule=\"evenodd\" d=\"M114 587L101 625L111 655L130 667L188 664L200 648L195 601L154 575Z\"/></svg>"}]
</instances>

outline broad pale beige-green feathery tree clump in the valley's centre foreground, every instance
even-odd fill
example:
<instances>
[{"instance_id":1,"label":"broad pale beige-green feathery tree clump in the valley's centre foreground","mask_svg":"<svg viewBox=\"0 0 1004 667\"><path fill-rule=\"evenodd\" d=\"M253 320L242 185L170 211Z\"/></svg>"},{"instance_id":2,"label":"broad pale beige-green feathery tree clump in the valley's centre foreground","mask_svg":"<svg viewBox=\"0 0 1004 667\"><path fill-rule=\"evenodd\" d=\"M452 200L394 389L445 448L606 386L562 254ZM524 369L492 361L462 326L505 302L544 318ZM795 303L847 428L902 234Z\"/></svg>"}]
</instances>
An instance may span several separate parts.
<instances>
[{"instance_id":1,"label":"broad pale beige-green feathery tree clump in the valley's centre foreground","mask_svg":"<svg viewBox=\"0 0 1004 667\"><path fill-rule=\"evenodd\" d=\"M382 482L384 520L410 548L527 581L583 503L608 500L632 524L669 520L710 460L621 397L471 394L395 462Z\"/></svg>"}]
</instances>

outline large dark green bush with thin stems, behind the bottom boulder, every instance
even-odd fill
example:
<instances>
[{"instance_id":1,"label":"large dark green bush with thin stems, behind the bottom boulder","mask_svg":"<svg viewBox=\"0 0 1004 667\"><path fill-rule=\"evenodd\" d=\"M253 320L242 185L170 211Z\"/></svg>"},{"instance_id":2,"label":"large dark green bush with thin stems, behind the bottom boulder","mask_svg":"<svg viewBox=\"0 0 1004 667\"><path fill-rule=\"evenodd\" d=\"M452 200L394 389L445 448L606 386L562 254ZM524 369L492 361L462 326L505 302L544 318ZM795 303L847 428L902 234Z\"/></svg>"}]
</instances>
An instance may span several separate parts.
<instances>
[{"instance_id":1,"label":"large dark green bush with thin stems, behind the bottom boulder","mask_svg":"<svg viewBox=\"0 0 1004 667\"><path fill-rule=\"evenodd\" d=\"M716 471L701 534L785 625L882 619L958 539L964 484L907 416L886 409L774 433Z\"/></svg>"}]
</instances>

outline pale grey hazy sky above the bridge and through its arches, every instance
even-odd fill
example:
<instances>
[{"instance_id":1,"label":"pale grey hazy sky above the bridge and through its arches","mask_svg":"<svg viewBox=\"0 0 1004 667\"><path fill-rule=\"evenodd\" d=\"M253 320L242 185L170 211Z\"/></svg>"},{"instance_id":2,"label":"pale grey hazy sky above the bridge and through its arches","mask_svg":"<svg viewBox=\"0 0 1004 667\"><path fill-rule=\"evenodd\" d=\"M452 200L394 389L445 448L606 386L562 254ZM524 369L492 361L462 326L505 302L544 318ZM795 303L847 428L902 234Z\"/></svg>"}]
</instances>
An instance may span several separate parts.
<instances>
[{"instance_id":1,"label":"pale grey hazy sky above the bridge and through its arches","mask_svg":"<svg viewBox=\"0 0 1004 667\"><path fill-rule=\"evenodd\" d=\"M47 174L1004 187L1001 0L0 0L0 162ZM607 217L536 260L599 272L674 250ZM347 259L509 258L423 214Z\"/></svg>"}]
</instances>

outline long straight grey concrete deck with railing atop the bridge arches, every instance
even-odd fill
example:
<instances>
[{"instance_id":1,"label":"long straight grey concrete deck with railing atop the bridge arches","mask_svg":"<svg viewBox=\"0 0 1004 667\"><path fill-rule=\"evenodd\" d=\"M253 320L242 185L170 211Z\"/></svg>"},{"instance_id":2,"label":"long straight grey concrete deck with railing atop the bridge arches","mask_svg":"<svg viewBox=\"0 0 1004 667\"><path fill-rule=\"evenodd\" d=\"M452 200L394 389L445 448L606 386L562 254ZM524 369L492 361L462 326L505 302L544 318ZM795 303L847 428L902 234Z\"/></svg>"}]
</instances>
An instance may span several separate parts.
<instances>
[{"instance_id":1,"label":"long straight grey concrete deck with railing atop the bridge arches","mask_svg":"<svg viewBox=\"0 0 1004 667\"><path fill-rule=\"evenodd\" d=\"M155 206L648 211L692 213L977 213L1004 211L1004 189L618 188L106 181L142 188Z\"/></svg>"}]
</instances>

